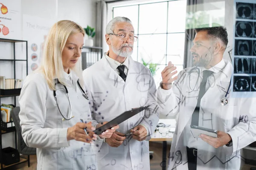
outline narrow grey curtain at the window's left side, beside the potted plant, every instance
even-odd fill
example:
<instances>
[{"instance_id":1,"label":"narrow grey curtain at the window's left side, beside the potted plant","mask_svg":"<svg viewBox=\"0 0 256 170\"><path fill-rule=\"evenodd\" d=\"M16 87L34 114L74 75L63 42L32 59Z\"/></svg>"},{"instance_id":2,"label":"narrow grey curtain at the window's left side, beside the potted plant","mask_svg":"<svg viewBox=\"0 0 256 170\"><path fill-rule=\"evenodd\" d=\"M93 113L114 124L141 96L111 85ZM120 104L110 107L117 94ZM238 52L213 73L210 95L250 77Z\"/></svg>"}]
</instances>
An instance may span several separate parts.
<instances>
[{"instance_id":1,"label":"narrow grey curtain at the window's left side, beside the potted plant","mask_svg":"<svg viewBox=\"0 0 256 170\"><path fill-rule=\"evenodd\" d=\"M107 26L107 4L104 0L97 1L96 13L96 46L103 48L103 53L107 50L105 42L105 29Z\"/></svg>"}]
</instances>

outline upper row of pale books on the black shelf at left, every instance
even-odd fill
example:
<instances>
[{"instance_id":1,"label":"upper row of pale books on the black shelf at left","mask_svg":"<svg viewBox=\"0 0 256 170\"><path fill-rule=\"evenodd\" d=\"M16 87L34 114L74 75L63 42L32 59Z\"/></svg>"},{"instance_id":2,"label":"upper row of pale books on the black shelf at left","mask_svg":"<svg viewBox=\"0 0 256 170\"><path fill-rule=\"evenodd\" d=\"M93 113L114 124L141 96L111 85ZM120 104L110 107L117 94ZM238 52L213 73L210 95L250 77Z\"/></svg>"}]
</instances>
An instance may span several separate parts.
<instances>
[{"instance_id":1,"label":"upper row of pale books on the black shelf at left","mask_svg":"<svg viewBox=\"0 0 256 170\"><path fill-rule=\"evenodd\" d=\"M0 77L0 89L15 89L21 88L21 79L6 79L4 76Z\"/></svg>"}]
</instances>

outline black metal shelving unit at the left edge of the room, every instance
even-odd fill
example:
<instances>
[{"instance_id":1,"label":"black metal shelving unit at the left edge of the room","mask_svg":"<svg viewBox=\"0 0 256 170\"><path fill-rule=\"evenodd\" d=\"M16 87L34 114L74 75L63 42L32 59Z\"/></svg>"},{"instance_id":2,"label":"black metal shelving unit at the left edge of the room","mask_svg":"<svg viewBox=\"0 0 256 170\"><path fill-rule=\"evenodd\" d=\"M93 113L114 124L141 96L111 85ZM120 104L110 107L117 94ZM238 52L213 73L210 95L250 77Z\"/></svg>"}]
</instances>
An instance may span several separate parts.
<instances>
[{"instance_id":1,"label":"black metal shelving unit at the left edge of the room","mask_svg":"<svg viewBox=\"0 0 256 170\"><path fill-rule=\"evenodd\" d=\"M16 79L16 62L26 62L26 75L28 75L28 52L27 52L27 49L28 49L28 42L27 41L23 41L23 40L10 40L10 39L3 39L3 38L0 38L0 42L6 42L6 43L12 43L13 45L13 49L12 49L12 52L13 52L13 59L0 59L0 63L3 64L4 62L6 62L7 64L9 62L12 62L13 63L13 70L14 70L14 79ZM26 43L26 59L16 59L15 58L15 55L16 55L16 49L15 49L15 45L17 45L17 43ZM1 73L0 73L0 76L1 76ZM0 87L1 89L1 87ZM1 91L0 91L0 105L2 104L1 103L1 98L7 98L7 97L13 97L14 98L14 105L16 106L16 96L19 96L20 95L20 91L17 90L17 89L13 89L13 90L10 90L8 91L9 94L5 94L3 95L3 93L1 94ZM6 104L9 104L9 103L6 103ZM7 128L6 129L3 129L4 127L4 124L6 124ZM14 164L11 164L11 165L4 165L2 164L2 135L6 134L6 133L15 133L15 149L17 149L17 132L16 132L16 129L15 129L15 126L14 126L14 123L13 122L9 122L8 123L9 126L7 125L7 123L5 122L2 122L2 118L0 119L0 169L5 169L7 167L12 167L14 165L17 165L17 164L20 164L20 163L23 163L23 162L26 162L28 161L29 162L29 159L24 159L22 157L20 157L20 161L17 162L17 163L14 163Z\"/></svg>"}]
</instances>

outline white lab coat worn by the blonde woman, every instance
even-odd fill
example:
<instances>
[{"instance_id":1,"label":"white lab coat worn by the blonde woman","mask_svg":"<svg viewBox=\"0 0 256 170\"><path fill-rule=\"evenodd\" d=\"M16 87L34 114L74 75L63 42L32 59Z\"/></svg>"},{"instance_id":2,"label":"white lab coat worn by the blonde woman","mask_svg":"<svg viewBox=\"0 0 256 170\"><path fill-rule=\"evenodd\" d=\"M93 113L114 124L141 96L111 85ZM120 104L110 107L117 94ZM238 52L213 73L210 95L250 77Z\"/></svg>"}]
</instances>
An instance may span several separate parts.
<instances>
[{"instance_id":1,"label":"white lab coat worn by the blonde woman","mask_svg":"<svg viewBox=\"0 0 256 170\"><path fill-rule=\"evenodd\" d=\"M37 170L96 170L96 156L93 144L70 140L67 142L67 128L80 119L91 121L88 100L82 96L77 85L78 77L71 71L73 83L66 78L73 118L62 120L53 91L40 73L28 75L21 90L20 125L24 142L37 148ZM80 83L81 84L81 83ZM58 88L64 88L58 84ZM64 93L63 93L64 92ZM70 106L65 91L56 91L58 105L65 117L70 116ZM58 97L61 96L61 97ZM67 115L69 111L69 115Z\"/></svg>"}]
</instances>

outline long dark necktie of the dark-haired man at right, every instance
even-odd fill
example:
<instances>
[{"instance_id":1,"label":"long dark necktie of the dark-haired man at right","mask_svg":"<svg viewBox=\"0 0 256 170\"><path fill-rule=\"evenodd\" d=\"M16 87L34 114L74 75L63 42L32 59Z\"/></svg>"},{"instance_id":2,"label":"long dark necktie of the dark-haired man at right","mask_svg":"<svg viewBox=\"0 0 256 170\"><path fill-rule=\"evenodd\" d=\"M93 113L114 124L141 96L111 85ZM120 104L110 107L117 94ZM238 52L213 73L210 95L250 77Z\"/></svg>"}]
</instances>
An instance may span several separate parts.
<instances>
[{"instance_id":1,"label":"long dark necktie of the dark-haired man at right","mask_svg":"<svg viewBox=\"0 0 256 170\"><path fill-rule=\"evenodd\" d=\"M201 99L204 96L206 90L206 83L207 83L207 78L213 73L213 71L209 71L209 70L204 70L203 71L203 80L200 84L200 90L199 90L199 95L198 95L198 102L196 104L195 107L195 111L192 114L192 121L191 124L192 125L196 125L198 126L198 122L199 122L199 110L200 110L200 103L201 103Z\"/></svg>"}]
</instances>

